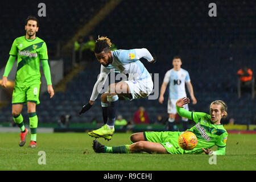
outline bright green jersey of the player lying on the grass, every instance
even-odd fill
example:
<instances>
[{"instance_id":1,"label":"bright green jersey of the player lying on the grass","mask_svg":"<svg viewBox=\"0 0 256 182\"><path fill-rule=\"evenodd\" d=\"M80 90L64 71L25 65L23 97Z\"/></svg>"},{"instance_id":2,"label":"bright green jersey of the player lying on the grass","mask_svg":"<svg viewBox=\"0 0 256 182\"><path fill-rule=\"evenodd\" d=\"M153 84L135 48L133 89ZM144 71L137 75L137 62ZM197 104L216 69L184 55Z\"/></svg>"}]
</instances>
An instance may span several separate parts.
<instances>
[{"instance_id":1,"label":"bright green jersey of the player lying on the grass","mask_svg":"<svg viewBox=\"0 0 256 182\"><path fill-rule=\"evenodd\" d=\"M224 129L223 125L212 124L212 122L210 122L209 114L190 112L180 107L177 109L177 111L178 110L182 110L188 119L191 119L196 123L195 126L187 131L192 131L196 135L197 145L192 150L185 151L185 154L200 154L203 152L202 148L207 149L213 147L214 145L218 146L218 150L226 147L228 132ZM180 114L179 111L178 113ZM184 114L181 116L184 117Z\"/></svg>"}]
</instances>

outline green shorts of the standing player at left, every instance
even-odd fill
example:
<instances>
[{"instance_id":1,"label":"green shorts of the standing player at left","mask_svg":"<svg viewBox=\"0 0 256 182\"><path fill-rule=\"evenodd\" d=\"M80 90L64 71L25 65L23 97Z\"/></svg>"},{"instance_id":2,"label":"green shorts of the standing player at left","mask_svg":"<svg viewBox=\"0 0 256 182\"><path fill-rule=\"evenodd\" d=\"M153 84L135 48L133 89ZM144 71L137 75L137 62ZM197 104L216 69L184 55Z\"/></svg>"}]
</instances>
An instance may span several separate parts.
<instances>
[{"instance_id":1,"label":"green shorts of the standing player at left","mask_svg":"<svg viewBox=\"0 0 256 182\"><path fill-rule=\"evenodd\" d=\"M15 85L13 90L13 104L27 104L27 102L35 102L40 104L39 90L40 81L30 85Z\"/></svg>"}]
</instances>

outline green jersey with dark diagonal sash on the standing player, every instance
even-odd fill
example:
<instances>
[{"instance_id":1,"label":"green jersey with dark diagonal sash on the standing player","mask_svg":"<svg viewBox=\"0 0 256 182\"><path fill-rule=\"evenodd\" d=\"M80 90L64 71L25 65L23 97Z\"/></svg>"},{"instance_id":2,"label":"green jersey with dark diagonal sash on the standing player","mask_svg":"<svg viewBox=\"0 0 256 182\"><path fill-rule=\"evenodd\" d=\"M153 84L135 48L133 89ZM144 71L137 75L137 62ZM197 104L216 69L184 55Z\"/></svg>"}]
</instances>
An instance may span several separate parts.
<instances>
[{"instance_id":1,"label":"green jersey with dark diagonal sash on the standing player","mask_svg":"<svg viewBox=\"0 0 256 182\"><path fill-rule=\"evenodd\" d=\"M40 81L40 60L48 60L46 43L42 39L29 40L20 36L14 40L10 55L16 56L18 61L15 85Z\"/></svg>"}]
</instances>

